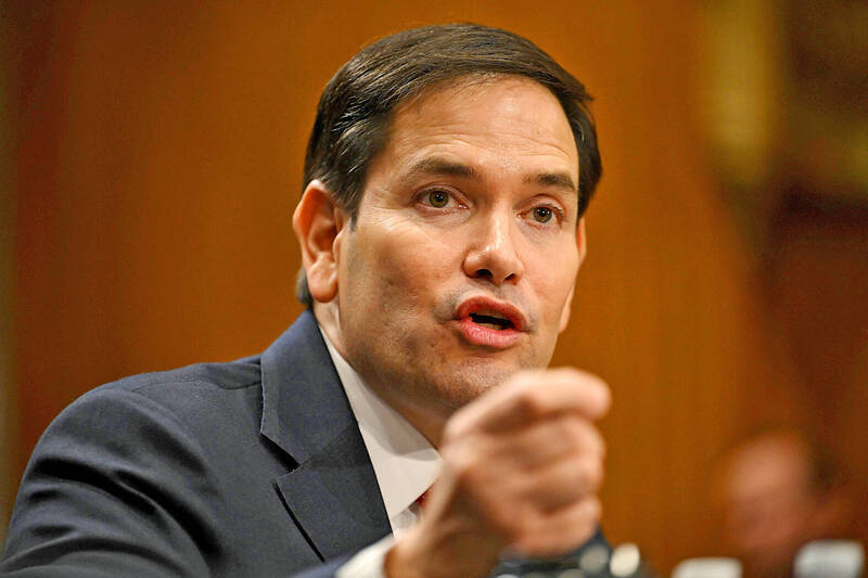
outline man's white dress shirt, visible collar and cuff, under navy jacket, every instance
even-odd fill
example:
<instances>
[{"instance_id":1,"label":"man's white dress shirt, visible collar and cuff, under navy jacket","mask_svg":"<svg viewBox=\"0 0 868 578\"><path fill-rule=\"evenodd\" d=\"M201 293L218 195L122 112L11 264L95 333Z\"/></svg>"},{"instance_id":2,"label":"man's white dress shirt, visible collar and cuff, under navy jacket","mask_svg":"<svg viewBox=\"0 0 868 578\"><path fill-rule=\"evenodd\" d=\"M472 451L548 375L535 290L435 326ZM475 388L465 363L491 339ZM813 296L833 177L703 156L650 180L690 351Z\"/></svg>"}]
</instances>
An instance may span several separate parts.
<instances>
[{"instance_id":1,"label":"man's white dress shirt, visible collar and cuff, under navy jacket","mask_svg":"<svg viewBox=\"0 0 868 578\"><path fill-rule=\"evenodd\" d=\"M373 465L392 536L361 550L344 564L339 578L382 578L383 558L394 539L419 517L416 500L434 484L442 459L410 422L374 394L320 329L344 386Z\"/></svg>"}]
</instances>

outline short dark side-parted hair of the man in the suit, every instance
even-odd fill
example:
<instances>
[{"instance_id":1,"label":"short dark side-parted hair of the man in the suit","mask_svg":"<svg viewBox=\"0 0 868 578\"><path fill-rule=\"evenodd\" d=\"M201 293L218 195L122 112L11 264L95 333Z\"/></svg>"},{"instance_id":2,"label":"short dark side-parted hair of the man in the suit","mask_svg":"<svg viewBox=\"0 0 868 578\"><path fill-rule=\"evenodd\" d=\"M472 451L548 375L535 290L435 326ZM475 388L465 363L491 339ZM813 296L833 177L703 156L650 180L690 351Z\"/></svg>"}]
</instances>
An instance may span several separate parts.
<instances>
[{"instance_id":1,"label":"short dark side-parted hair of the man in the suit","mask_svg":"<svg viewBox=\"0 0 868 578\"><path fill-rule=\"evenodd\" d=\"M476 24L425 26L387 36L344 64L319 100L307 144L303 188L321 180L349 214L358 210L368 166L383 149L392 113L405 99L464 76L516 75L549 89L578 149L578 215L602 166L585 87L529 40ZM296 296L311 306L304 269Z\"/></svg>"}]
</instances>

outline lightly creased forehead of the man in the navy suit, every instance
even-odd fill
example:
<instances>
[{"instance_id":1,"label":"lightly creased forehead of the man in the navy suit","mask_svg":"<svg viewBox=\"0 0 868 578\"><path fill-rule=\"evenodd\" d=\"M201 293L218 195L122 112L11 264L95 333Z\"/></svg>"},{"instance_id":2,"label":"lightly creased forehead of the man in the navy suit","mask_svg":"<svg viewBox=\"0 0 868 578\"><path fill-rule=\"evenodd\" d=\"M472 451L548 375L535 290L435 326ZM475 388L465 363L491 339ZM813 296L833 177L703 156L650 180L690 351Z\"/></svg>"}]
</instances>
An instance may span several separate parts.
<instances>
[{"instance_id":1,"label":"lightly creased forehead of the man in the navy suit","mask_svg":"<svg viewBox=\"0 0 868 578\"><path fill-rule=\"evenodd\" d=\"M400 103L379 160L430 155L501 170L560 169L578 182L578 153L560 102L523 77L463 77Z\"/></svg>"}]
</instances>

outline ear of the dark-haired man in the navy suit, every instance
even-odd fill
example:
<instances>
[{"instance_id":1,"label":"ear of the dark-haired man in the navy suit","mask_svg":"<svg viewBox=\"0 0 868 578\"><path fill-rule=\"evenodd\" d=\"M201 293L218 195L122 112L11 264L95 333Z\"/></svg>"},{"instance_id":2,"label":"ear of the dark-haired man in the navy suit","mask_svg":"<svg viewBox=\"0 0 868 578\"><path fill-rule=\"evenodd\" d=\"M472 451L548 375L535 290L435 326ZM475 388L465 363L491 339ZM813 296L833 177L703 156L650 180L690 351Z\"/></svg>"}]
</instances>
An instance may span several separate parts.
<instances>
[{"instance_id":1,"label":"ear of the dark-haired man in the navy suit","mask_svg":"<svg viewBox=\"0 0 868 578\"><path fill-rule=\"evenodd\" d=\"M337 295L339 239L346 214L335 203L331 191L312 180L302 194L292 216L292 228L302 247L302 262L310 295L328 303Z\"/></svg>"}]
</instances>

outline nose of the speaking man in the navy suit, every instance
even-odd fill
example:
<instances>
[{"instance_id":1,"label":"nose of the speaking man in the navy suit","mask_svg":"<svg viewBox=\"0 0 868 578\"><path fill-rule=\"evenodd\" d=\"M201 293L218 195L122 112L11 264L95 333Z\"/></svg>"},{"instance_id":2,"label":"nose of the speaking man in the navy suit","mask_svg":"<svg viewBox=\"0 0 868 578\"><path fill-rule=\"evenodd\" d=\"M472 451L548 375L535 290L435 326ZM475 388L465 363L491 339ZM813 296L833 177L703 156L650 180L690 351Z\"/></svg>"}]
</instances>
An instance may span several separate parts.
<instances>
[{"instance_id":1,"label":"nose of the speaking man in the navy suit","mask_svg":"<svg viewBox=\"0 0 868 578\"><path fill-rule=\"evenodd\" d=\"M464 274L484 279L497 286L515 284L524 274L524 264L515 249L511 215L494 215L480 222L464 256Z\"/></svg>"}]
</instances>

